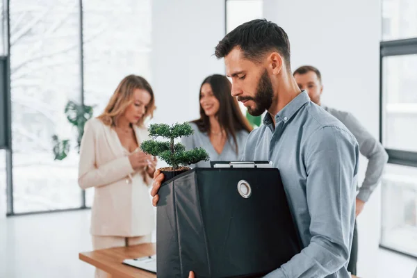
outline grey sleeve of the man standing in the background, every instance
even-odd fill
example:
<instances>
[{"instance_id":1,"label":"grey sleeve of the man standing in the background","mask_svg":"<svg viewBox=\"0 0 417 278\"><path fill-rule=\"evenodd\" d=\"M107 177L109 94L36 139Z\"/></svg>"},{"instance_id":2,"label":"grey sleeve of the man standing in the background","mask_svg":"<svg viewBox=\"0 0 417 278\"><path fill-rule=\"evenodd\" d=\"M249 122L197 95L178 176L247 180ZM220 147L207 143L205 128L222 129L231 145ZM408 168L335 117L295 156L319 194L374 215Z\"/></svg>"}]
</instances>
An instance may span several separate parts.
<instances>
[{"instance_id":1,"label":"grey sleeve of the man standing in the background","mask_svg":"<svg viewBox=\"0 0 417 278\"><path fill-rule=\"evenodd\" d=\"M359 150L363 156L368 158L368 167L366 168L365 179L363 180L358 199L367 202L373 190L377 187L384 172L384 167L388 161L382 144L374 138L350 113L343 113L343 117L338 118L345 124L347 129L352 132L359 143Z\"/></svg>"}]
</instances>

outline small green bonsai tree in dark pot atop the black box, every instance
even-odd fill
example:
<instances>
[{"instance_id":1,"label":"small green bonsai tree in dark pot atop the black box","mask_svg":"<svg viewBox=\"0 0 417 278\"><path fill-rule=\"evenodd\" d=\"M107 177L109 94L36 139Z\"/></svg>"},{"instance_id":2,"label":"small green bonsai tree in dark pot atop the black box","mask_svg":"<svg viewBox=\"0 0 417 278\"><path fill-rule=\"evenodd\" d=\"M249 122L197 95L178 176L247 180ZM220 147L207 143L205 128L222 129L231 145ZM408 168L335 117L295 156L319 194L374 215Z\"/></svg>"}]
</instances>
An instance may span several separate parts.
<instances>
[{"instance_id":1,"label":"small green bonsai tree in dark pot atop the black box","mask_svg":"<svg viewBox=\"0 0 417 278\"><path fill-rule=\"evenodd\" d=\"M208 161L208 154L202 147L186 150L186 147L181 143L174 144L175 138L190 136L193 133L193 128L188 122L172 126L168 124L151 124L149 126L149 137L152 139L143 141L140 144L140 149L152 156L158 156L170 165L170 167L160 169L165 175L165 181L190 170L190 167L186 167L186 165ZM155 140L158 137L166 138L168 141Z\"/></svg>"}]
</instances>

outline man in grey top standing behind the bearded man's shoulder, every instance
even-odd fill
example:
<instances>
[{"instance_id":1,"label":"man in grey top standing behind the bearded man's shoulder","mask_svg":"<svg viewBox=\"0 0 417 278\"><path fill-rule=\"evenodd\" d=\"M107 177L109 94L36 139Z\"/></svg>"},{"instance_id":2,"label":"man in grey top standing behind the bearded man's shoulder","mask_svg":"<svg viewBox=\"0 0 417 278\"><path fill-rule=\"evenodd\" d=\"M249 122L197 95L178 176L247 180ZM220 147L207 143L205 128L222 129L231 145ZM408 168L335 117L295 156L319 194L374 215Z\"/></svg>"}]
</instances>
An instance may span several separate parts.
<instances>
[{"instance_id":1,"label":"man in grey top standing behind the bearded man's shoulder","mask_svg":"<svg viewBox=\"0 0 417 278\"><path fill-rule=\"evenodd\" d=\"M316 67L309 65L299 67L295 70L293 75L298 87L300 87L301 90L306 90L308 92L311 101L322 106L320 96L322 94L323 85L321 74ZM322 106L322 108L345 124L347 129L349 129L357 139L361 154L368 158L365 179L357 193L356 216L358 216L382 177L382 172L388 161L388 154L386 154L381 143L375 139L351 113L338 111L327 106ZM357 256L358 240L357 227L355 224L352 251L350 254L349 265L347 266L347 270L350 271L352 275L357 275Z\"/></svg>"}]
</instances>

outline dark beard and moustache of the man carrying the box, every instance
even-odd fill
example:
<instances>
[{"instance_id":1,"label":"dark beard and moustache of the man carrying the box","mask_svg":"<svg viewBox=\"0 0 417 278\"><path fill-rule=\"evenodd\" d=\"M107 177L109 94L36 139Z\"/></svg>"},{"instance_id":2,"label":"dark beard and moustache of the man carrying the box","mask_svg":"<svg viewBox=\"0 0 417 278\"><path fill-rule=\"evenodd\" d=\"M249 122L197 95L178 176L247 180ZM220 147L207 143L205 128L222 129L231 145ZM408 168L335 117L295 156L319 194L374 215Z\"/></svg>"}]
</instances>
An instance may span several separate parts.
<instances>
[{"instance_id":1,"label":"dark beard and moustache of the man carrying the box","mask_svg":"<svg viewBox=\"0 0 417 278\"><path fill-rule=\"evenodd\" d=\"M250 106L248 106L247 111L252 116L260 116L263 112L265 112L265 110L270 108L272 105L273 97L274 91L272 90L272 82L268 76L268 72L265 70L259 79L255 97L238 97L238 100L254 101L255 107L252 109Z\"/></svg>"}]
</instances>

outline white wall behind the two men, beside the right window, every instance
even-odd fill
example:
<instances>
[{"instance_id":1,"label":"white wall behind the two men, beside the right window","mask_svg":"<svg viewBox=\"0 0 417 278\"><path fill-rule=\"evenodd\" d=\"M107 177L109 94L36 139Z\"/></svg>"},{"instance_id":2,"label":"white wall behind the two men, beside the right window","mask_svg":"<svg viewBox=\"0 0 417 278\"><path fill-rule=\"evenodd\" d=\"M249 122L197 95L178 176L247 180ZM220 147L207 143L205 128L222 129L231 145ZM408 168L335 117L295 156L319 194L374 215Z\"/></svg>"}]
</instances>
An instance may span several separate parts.
<instances>
[{"instance_id":1,"label":"white wall behind the two men, beside the right window","mask_svg":"<svg viewBox=\"0 0 417 278\"><path fill-rule=\"evenodd\" d=\"M263 13L288 33L293 70L309 64L322 72L324 104L350 111L378 138L379 0L264 0ZM362 157L361 180L365 170ZM411 277L413 261L400 268L392 264L398 257L381 261L387 255L382 258L378 247L380 216L378 187L358 218L359 277Z\"/></svg>"}]
</instances>

